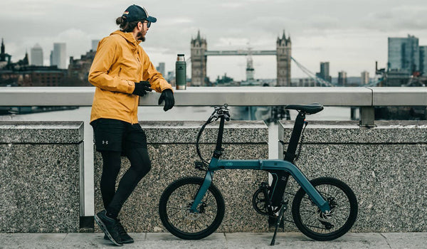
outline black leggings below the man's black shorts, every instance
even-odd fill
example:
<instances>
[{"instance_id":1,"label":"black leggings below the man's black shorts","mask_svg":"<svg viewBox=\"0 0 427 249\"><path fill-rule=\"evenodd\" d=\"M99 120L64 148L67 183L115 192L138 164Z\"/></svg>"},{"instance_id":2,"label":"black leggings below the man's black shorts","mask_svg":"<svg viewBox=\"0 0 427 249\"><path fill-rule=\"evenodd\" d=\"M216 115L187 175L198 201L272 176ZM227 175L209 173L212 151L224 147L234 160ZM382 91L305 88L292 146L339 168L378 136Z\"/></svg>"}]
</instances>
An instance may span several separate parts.
<instances>
[{"instance_id":1,"label":"black leggings below the man's black shorts","mask_svg":"<svg viewBox=\"0 0 427 249\"><path fill-rule=\"evenodd\" d=\"M100 189L105 210L111 218L117 218L120 209L127 198L132 194L139 181L151 169L147 148L135 148L127 151L126 157L130 160L130 168L122 176L117 191L115 184L120 171L121 152L103 151L102 176Z\"/></svg>"}]
</instances>

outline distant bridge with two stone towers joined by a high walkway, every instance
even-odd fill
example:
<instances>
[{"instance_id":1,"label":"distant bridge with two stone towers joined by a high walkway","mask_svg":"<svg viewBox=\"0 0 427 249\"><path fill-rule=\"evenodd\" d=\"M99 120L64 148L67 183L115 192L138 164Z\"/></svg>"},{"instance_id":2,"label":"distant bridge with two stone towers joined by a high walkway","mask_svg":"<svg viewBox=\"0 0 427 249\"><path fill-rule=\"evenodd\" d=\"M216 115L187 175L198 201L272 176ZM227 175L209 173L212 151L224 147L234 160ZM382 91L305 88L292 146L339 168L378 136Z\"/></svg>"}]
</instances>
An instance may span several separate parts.
<instances>
[{"instance_id":1,"label":"distant bridge with two stone towers joined by a high walkway","mask_svg":"<svg viewBox=\"0 0 427 249\"><path fill-rule=\"evenodd\" d=\"M208 51L206 39L201 38L200 31L191 39L191 85L206 86L209 80L206 77L207 57L213 55L276 55L277 58L277 86L290 86L290 60L291 41L283 36L276 41L276 50L234 50L234 51Z\"/></svg>"}]
</instances>

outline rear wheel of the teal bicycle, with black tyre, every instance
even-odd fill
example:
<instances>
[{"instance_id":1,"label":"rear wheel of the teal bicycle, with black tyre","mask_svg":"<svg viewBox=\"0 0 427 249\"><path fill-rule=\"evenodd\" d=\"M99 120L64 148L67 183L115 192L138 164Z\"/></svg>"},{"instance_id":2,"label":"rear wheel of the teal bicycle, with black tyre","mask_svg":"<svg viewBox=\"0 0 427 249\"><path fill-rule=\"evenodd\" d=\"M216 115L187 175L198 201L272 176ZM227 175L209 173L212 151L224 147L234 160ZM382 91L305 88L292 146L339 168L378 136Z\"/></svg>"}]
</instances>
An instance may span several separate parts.
<instances>
[{"instance_id":1,"label":"rear wheel of the teal bicycle, with black tyre","mask_svg":"<svg viewBox=\"0 0 427 249\"><path fill-rule=\"evenodd\" d=\"M295 225L307 237L314 240L325 241L341 237L352 228L357 218L357 198L354 192L347 184L332 177L320 177L310 182L330 203L331 213L329 215L322 213L301 188L292 202L292 218ZM332 188L335 193L330 191ZM342 218L341 222L339 218Z\"/></svg>"}]
</instances>

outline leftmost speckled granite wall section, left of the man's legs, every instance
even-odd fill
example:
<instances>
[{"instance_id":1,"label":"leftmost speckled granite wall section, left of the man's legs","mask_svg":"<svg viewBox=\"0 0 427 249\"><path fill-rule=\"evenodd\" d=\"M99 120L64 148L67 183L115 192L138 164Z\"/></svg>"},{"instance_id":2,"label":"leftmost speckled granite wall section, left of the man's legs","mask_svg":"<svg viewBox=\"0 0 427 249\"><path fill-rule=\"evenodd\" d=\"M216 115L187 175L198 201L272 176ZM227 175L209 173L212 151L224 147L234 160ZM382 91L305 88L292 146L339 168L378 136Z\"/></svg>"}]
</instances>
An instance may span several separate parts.
<instances>
[{"instance_id":1,"label":"leftmost speckled granite wall section, left of the man's legs","mask_svg":"<svg viewBox=\"0 0 427 249\"><path fill-rule=\"evenodd\" d=\"M0 232L79 231L83 122L0 122Z\"/></svg>"}]
</instances>

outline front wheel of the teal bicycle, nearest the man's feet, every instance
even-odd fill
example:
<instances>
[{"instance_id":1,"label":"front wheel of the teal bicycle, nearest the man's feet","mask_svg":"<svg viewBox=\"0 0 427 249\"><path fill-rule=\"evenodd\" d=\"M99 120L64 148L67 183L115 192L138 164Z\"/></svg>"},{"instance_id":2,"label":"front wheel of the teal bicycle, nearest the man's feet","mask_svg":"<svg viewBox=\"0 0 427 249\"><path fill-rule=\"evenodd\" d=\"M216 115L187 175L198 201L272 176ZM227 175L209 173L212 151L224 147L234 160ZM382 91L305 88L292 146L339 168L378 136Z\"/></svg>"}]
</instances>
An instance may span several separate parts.
<instances>
[{"instance_id":1,"label":"front wheel of the teal bicycle, nearest the man's feet","mask_svg":"<svg viewBox=\"0 0 427 249\"><path fill-rule=\"evenodd\" d=\"M204 179L184 177L164 190L159 202L159 216L167 230L184 240L199 240L211 235L221 224L225 205L221 192L211 184L197 212L190 208Z\"/></svg>"}]
</instances>

